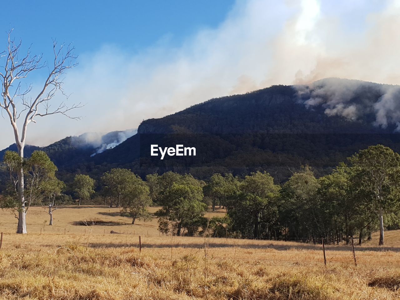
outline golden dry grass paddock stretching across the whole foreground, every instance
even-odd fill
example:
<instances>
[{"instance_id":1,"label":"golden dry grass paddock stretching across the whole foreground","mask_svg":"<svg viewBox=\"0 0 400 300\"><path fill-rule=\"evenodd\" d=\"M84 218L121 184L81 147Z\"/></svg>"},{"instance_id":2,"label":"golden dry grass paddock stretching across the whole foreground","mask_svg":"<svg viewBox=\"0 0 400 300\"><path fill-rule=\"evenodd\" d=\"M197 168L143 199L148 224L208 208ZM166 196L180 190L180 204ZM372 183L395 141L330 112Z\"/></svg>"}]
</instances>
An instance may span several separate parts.
<instances>
[{"instance_id":1,"label":"golden dry grass paddock stretching across the whole foreground","mask_svg":"<svg viewBox=\"0 0 400 300\"><path fill-rule=\"evenodd\" d=\"M328 245L325 267L320 245L160 236L155 219L130 225L115 208L59 208L48 226L32 207L27 223L17 235L0 211L0 299L400 299L399 231L356 246L357 266L350 246Z\"/></svg>"}]
</instances>

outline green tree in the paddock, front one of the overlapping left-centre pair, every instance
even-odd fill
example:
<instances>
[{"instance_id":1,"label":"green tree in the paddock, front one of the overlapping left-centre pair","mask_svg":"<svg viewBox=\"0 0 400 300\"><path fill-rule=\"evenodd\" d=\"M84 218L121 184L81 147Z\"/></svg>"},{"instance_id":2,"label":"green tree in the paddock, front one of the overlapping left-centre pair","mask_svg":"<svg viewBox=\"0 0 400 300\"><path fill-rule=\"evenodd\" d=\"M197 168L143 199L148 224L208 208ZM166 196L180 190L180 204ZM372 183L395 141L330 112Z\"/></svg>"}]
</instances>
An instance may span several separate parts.
<instances>
[{"instance_id":1,"label":"green tree in the paddock, front one of the overlapping left-centre pair","mask_svg":"<svg viewBox=\"0 0 400 300\"><path fill-rule=\"evenodd\" d=\"M135 224L136 219L144 221L151 220L147 206L151 205L152 201L149 196L149 188L139 176L134 176L130 180L128 188L124 192L122 198L122 214L127 214L132 218L132 224Z\"/></svg>"}]
</instances>

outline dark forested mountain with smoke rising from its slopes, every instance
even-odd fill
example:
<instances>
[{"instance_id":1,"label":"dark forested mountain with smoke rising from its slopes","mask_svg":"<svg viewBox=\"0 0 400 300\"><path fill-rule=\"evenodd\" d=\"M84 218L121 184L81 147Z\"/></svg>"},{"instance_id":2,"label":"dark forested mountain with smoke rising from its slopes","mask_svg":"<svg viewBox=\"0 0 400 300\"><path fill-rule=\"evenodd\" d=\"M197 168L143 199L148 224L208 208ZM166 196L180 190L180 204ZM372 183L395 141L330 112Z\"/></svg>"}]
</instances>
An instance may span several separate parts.
<instances>
[{"instance_id":1,"label":"dark forested mountain with smoke rising from its slopes","mask_svg":"<svg viewBox=\"0 0 400 300\"><path fill-rule=\"evenodd\" d=\"M211 99L145 120L137 134L120 143L113 143L120 132L101 138L88 133L40 149L67 183L75 173L99 179L115 167L129 168L142 178L168 170L202 179L214 172L244 176L266 170L279 183L306 164L317 176L326 174L373 144L400 151L398 111L400 86L326 78ZM160 160L150 156L152 144L195 147L196 156Z\"/></svg>"}]
</instances>

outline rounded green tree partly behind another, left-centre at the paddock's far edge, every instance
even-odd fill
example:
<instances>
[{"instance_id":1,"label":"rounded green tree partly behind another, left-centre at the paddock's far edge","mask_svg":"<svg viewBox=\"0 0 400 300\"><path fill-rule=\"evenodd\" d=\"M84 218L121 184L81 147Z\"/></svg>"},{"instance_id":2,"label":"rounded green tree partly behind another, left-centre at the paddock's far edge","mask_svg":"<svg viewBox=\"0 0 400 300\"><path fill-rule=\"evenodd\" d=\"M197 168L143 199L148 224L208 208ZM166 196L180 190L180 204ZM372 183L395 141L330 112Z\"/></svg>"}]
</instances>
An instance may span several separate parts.
<instances>
[{"instance_id":1,"label":"rounded green tree partly behind another, left-centre at the paddock's far edge","mask_svg":"<svg viewBox=\"0 0 400 300\"><path fill-rule=\"evenodd\" d=\"M124 195L127 194L132 180L135 180L136 175L128 169L114 168L105 172L102 180L110 193L110 207L112 207L112 199L116 198L117 203L115 207L120 206L120 202Z\"/></svg>"}]
</instances>

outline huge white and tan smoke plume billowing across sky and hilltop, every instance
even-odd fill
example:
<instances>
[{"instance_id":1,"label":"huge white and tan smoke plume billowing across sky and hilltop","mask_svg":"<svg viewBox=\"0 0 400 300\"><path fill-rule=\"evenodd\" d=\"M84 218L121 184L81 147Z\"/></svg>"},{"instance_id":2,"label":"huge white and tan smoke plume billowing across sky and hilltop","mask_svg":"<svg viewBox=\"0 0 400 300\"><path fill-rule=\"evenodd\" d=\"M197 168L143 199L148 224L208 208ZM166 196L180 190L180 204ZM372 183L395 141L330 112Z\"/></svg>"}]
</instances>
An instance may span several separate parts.
<instances>
[{"instance_id":1,"label":"huge white and tan smoke plume billowing across sky and hilltop","mask_svg":"<svg viewBox=\"0 0 400 300\"><path fill-rule=\"evenodd\" d=\"M76 112L83 120L40 120L30 124L28 142L43 145L88 131L136 128L143 119L272 84L328 77L398 84L398 28L396 0L238 0L218 27L202 29L182 45L172 46L165 36L136 53L118 45L79 53L80 65L69 72L64 88L73 93L69 102L87 103ZM353 120L374 113L377 126L400 122L393 111L397 92L390 87L361 111L361 104L343 100L351 99L356 87L323 88L332 95L329 103L315 90L305 104L326 104L326 114ZM13 142L11 135L5 140L3 146Z\"/></svg>"}]
</instances>

